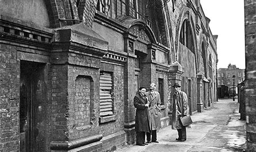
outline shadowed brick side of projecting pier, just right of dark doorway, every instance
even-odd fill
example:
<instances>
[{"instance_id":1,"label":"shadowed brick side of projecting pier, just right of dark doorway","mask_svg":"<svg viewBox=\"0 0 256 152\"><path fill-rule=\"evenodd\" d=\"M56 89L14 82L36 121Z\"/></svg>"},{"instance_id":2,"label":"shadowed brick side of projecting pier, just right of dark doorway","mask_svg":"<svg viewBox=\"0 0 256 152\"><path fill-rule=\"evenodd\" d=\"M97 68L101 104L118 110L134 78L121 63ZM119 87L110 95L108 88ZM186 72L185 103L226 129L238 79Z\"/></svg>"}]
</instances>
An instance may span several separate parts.
<instances>
[{"instance_id":1,"label":"shadowed brick side of projecting pier, just right of dark doorway","mask_svg":"<svg viewBox=\"0 0 256 152\"><path fill-rule=\"evenodd\" d=\"M66 73L68 67L66 65L52 65L50 68L50 103L52 117L50 119L51 136L50 141L67 141L68 127L66 112L68 108Z\"/></svg>"}]
</instances>

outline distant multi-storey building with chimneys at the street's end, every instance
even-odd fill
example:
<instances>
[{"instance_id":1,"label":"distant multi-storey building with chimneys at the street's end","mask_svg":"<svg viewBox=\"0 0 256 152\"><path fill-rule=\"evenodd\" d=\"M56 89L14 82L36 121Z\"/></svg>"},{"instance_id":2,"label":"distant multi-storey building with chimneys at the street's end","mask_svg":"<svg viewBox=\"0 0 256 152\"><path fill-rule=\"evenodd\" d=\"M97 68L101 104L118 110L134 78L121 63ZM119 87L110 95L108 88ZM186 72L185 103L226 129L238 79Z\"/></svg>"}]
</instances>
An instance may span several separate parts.
<instances>
[{"instance_id":1,"label":"distant multi-storey building with chimneys at the street's end","mask_svg":"<svg viewBox=\"0 0 256 152\"><path fill-rule=\"evenodd\" d=\"M218 88L221 85L226 85L228 88L233 86L233 75L234 85L237 86L245 79L245 69L239 69L235 65L228 64L227 68L218 69Z\"/></svg>"}]
</instances>

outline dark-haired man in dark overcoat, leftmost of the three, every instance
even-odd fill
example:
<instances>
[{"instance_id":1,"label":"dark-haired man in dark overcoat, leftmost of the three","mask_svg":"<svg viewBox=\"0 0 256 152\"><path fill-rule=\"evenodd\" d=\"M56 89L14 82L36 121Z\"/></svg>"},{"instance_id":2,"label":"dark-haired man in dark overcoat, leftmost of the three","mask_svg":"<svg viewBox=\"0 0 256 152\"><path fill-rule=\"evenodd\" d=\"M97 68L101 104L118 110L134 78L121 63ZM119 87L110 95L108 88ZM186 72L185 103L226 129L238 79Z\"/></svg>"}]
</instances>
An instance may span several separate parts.
<instances>
[{"instance_id":1,"label":"dark-haired man in dark overcoat, leftmost of the three","mask_svg":"<svg viewBox=\"0 0 256 152\"><path fill-rule=\"evenodd\" d=\"M133 105L136 107L135 115L135 131L136 131L136 144L145 146L145 132L150 132L149 118L147 108L149 103L145 95L146 88L140 87L139 93L133 99Z\"/></svg>"}]
</instances>

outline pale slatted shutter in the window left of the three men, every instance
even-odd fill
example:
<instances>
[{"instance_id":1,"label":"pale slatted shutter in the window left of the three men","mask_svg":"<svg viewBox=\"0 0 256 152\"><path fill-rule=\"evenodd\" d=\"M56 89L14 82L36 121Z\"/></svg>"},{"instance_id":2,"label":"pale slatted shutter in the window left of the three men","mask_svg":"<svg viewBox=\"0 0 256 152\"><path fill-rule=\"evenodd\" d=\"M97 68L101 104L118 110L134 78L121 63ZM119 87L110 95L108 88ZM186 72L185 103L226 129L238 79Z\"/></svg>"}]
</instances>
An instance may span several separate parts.
<instances>
[{"instance_id":1,"label":"pale slatted shutter in the window left of the three men","mask_svg":"<svg viewBox=\"0 0 256 152\"><path fill-rule=\"evenodd\" d=\"M113 115L112 76L109 73L100 73L100 116Z\"/></svg>"}]
</instances>

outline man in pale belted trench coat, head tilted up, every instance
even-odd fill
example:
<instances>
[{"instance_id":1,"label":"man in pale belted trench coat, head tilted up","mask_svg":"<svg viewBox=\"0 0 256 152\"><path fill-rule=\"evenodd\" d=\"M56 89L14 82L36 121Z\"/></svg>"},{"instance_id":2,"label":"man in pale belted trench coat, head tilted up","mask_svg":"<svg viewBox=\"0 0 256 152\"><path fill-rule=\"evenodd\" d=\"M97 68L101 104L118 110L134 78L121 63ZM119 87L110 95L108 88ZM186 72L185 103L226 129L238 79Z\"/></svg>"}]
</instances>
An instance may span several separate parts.
<instances>
[{"instance_id":1,"label":"man in pale belted trench coat, head tilted up","mask_svg":"<svg viewBox=\"0 0 256 152\"><path fill-rule=\"evenodd\" d=\"M161 121L160 121L160 94L156 90L156 84L150 84L150 91L146 92L146 96L149 99L149 125L150 131L146 133L147 136L147 143L157 142L157 129L161 128ZM151 139L152 134L152 139Z\"/></svg>"}]
</instances>

